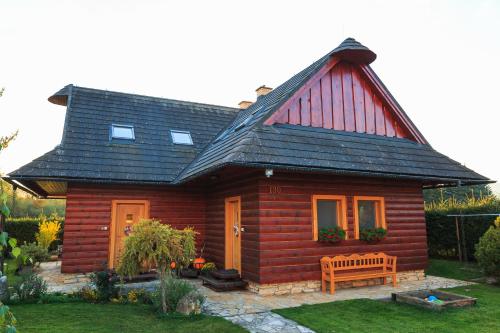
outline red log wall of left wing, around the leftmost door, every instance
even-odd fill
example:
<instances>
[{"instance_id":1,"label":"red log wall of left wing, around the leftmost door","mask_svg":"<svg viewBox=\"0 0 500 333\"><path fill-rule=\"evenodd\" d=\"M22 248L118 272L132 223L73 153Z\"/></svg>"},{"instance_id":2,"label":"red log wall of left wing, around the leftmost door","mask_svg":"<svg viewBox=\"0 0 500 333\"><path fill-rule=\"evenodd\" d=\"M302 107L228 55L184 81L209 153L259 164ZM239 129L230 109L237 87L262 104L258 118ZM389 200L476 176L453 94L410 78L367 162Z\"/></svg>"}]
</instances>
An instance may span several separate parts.
<instances>
[{"instance_id":1,"label":"red log wall of left wing, around the leftmost door","mask_svg":"<svg viewBox=\"0 0 500 333\"><path fill-rule=\"evenodd\" d=\"M198 247L205 236L202 191L182 187L69 184L63 273L91 272L107 264L112 200L149 200L150 217L176 228L193 226ZM104 230L107 227L107 230Z\"/></svg>"}]
</instances>

